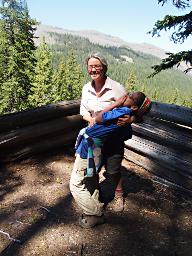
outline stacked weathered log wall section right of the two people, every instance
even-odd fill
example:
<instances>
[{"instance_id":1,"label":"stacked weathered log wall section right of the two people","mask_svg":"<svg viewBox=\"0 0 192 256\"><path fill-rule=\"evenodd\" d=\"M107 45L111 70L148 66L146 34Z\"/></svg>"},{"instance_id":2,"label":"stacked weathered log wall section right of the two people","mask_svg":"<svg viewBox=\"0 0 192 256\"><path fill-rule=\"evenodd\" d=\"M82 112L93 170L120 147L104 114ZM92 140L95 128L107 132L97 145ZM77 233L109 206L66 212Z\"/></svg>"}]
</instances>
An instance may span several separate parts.
<instances>
[{"instance_id":1,"label":"stacked weathered log wall section right of the two people","mask_svg":"<svg viewBox=\"0 0 192 256\"><path fill-rule=\"evenodd\" d=\"M153 102L144 122L132 127L125 158L192 190L192 109Z\"/></svg>"}]
</instances>

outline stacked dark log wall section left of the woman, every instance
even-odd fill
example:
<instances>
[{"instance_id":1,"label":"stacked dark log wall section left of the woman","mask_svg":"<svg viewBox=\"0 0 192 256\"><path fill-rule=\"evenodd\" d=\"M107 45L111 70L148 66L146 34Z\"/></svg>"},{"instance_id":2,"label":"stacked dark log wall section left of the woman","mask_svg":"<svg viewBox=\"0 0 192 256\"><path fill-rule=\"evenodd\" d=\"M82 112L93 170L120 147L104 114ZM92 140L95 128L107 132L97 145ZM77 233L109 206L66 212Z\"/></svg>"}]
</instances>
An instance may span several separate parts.
<instances>
[{"instance_id":1,"label":"stacked dark log wall section left of the woman","mask_svg":"<svg viewBox=\"0 0 192 256\"><path fill-rule=\"evenodd\" d=\"M0 117L0 161L72 145L84 125L79 101L60 102Z\"/></svg>"}]
</instances>

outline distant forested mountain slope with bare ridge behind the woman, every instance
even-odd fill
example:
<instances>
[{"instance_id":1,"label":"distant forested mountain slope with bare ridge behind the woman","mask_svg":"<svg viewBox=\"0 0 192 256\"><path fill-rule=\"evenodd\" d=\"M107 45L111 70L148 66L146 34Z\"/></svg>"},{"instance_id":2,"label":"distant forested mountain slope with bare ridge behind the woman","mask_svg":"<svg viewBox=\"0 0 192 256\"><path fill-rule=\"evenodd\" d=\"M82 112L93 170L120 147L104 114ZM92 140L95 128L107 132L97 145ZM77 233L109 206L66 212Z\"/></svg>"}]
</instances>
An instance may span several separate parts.
<instances>
[{"instance_id":1,"label":"distant forested mountain slope with bare ridge behind the woman","mask_svg":"<svg viewBox=\"0 0 192 256\"><path fill-rule=\"evenodd\" d=\"M184 101L187 102L185 104L191 104L191 76L185 75L178 69L169 69L148 79L153 72L151 67L161 61L159 55L164 54L161 49L157 53L154 50L157 49L156 47L147 44L126 43L119 38L95 31L89 31L89 33L87 31L70 31L45 25L38 26L36 35L39 36L37 44L42 41L43 37L50 44L55 67L59 64L61 56L66 57L73 49L77 61L81 65L85 82L89 79L85 59L91 52L100 52L110 64L108 75L112 79L126 85L128 77L132 74L133 79L134 76L136 78L137 87L134 89L145 90L151 98L158 97L158 101L167 103L171 102L171 99L177 98L178 105L182 105ZM155 53L152 54L152 52Z\"/></svg>"}]
</instances>

